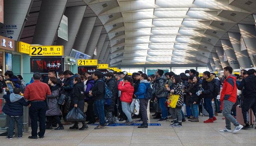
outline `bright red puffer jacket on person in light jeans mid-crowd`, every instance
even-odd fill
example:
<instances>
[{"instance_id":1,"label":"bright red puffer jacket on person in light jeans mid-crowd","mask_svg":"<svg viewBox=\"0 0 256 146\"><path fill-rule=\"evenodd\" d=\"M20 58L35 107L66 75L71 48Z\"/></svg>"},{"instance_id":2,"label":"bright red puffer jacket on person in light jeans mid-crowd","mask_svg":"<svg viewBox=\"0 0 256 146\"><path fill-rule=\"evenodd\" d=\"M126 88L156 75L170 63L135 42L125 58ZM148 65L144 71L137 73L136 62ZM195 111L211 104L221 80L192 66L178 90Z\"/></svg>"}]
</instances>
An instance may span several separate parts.
<instances>
[{"instance_id":1,"label":"bright red puffer jacket on person in light jeans mid-crowd","mask_svg":"<svg viewBox=\"0 0 256 146\"><path fill-rule=\"evenodd\" d=\"M118 90L121 91L120 101L131 103L134 88L130 82L125 82L124 85L122 85L123 81L120 81L118 84Z\"/></svg>"}]
</instances>

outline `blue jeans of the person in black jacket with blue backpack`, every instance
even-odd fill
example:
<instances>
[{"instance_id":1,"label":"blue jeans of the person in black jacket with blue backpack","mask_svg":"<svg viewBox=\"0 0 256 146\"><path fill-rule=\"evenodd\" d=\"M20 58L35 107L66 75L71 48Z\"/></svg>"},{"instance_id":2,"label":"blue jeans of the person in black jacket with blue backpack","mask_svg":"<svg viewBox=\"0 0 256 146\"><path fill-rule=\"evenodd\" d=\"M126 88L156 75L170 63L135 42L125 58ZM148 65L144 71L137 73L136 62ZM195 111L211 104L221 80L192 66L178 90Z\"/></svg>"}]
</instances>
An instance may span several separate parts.
<instances>
[{"instance_id":1,"label":"blue jeans of the person in black jacket with blue backpack","mask_svg":"<svg viewBox=\"0 0 256 146\"><path fill-rule=\"evenodd\" d=\"M105 99L94 101L94 113L99 118L99 125L104 126L105 113L104 113Z\"/></svg>"}]
</instances>

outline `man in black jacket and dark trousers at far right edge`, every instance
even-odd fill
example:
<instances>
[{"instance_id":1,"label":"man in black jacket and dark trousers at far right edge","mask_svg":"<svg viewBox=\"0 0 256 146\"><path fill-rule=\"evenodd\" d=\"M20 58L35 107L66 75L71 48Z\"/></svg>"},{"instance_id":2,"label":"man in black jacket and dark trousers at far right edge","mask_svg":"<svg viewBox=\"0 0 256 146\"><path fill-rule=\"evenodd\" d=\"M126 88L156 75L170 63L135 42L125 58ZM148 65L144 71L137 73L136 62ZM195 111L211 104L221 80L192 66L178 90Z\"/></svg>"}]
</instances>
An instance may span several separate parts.
<instances>
[{"instance_id":1,"label":"man in black jacket and dark trousers at far right edge","mask_svg":"<svg viewBox=\"0 0 256 146\"><path fill-rule=\"evenodd\" d=\"M244 127L242 129L248 129L250 127L249 121L246 118L249 109L252 108L253 114L256 114L256 70L249 69L247 71L248 76L238 85L238 90L244 89L244 100L242 104L242 114L244 118Z\"/></svg>"}]
</instances>

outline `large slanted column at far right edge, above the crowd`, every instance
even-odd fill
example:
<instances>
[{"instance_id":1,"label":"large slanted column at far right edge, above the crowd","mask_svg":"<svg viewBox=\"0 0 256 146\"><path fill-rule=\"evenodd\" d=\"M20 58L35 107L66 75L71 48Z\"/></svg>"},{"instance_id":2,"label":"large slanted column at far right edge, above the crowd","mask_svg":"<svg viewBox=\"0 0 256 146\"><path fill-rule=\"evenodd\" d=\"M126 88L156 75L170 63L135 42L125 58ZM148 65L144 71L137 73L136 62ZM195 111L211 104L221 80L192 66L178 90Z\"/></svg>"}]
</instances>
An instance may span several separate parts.
<instances>
[{"instance_id":1,"label":"large slanted column at far right edge, above the crowd","mask_svg":"<svg viewBox=\"0 0 256 146\"><path fill-rule=\"evenodd\" d=\"M255 62L253 61L253 56L256 55L256 31L255 25L248 24L238 24L240 33L244 39L249 57L252 61L253 67L256 67Z\"/></svg>"}]
</instances>

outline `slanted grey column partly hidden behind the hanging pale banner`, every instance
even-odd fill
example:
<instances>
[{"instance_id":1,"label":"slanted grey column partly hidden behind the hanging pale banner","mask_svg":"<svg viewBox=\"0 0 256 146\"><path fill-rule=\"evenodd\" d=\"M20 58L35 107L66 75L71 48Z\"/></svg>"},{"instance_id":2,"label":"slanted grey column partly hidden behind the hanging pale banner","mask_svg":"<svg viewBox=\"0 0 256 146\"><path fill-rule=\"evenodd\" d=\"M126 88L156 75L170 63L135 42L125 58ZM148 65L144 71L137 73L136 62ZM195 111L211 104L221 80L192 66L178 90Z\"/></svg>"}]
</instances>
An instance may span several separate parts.
<instances>
[{"instance_id":1,"label":"slanted grey column partly hidden behind the hanging pale banner","mask_svg":"<svg viewBox=\"0 0 256 146\"><path fill-rule=\"evenodd\" d=\"M86 5L67 7L64 15L68 18L68 41L59 38L56 45L64 46L64 55L69 56L75 43L76 35L78 34L79 27L82 23Z\"/></svg>"}]
</instances>

